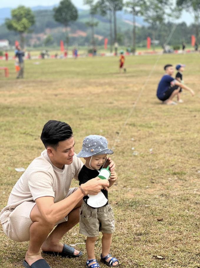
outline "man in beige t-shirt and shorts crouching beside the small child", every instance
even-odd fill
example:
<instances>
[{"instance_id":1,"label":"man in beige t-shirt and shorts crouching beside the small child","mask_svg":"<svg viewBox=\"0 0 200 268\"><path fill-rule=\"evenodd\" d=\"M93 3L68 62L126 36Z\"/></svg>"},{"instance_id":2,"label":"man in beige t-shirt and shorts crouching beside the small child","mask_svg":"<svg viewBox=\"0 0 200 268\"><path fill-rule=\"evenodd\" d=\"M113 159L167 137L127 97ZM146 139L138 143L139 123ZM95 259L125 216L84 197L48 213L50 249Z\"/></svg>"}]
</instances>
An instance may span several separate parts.
<instances>
[{"instance_id":1,"label":"man in beige t-shirt and shorts crouching beside the small child","mask_svg":"<svg viewBox=\"0 0 200 268\"><path fill-rule=\"evenodd\" d=\"M50 120L44 125L41 140L46 150L16 182L0 214L4 233L10 239L29 241L23 262L27 268L50 267L42 258L41 248L43 253L54 256L81 256L81 251L60 240L79 222L83 196L95 195L109 186L107 180L94 178L70 189L83 163L74 153L75 141L67 123ZM110 170L114 170L114 162L110 158L107 161Z\"/></svg>"}]
</instances>

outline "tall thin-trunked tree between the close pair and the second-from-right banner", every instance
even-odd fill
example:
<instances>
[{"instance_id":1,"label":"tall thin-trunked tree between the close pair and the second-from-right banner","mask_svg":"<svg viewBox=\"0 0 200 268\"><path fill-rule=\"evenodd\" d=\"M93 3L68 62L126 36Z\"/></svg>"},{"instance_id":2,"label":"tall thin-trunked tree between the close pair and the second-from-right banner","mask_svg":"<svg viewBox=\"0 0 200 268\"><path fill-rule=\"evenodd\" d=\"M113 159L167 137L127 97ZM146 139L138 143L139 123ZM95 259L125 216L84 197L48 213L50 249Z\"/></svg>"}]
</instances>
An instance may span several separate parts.
<instances>
[{"instance_id":1,"label":"tall thin-trunked tree between the close pair and the second-from-right banner","mask_svg":"<svg viewBox=\"0 0 200 268\"><path fill-rule=\"evenodd\" d=\"M133 53L135 53L136 46L136 25L135 25L135 17L139 15L143 15L143 10L145 7L145 0L129 0L125 3L125 7L127 11L133 15Z\"/></svg>"}]
</instances>

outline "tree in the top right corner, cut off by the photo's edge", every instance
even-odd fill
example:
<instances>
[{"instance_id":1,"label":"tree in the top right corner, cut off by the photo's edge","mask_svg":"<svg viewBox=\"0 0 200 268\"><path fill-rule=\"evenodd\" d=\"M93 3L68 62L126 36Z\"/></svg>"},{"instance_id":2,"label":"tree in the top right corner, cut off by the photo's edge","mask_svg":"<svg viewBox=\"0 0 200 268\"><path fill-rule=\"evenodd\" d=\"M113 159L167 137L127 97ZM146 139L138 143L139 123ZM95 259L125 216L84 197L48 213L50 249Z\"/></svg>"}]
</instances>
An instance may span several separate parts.
<instances>
[{"instance_id":1,"label":"tree in the top right corner, cut off by the photo's edge","mask_svg":"<svg viewBox=\"0 0 200 268\"><path fill-rule=\"evenodd\" d=\"M194 14L196 25L196 43L199 46L199 20L200 20L200 0L176 0L176 6L185 8Z\"/></svg>"}]
</instances>

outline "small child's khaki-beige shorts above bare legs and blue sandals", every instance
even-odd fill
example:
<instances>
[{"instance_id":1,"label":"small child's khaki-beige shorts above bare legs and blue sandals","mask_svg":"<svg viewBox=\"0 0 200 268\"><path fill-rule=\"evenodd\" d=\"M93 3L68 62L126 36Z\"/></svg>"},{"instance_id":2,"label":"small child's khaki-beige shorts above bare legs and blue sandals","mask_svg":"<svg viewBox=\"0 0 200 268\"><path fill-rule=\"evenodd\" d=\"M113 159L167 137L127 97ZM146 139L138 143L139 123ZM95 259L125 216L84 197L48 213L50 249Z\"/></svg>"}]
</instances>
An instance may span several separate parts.
<instances>
[{"instance_id":1,"label":"small child's khaki-beige shorts above bare legs and blue sandals","mask_svg":"<svg viewBox=\"0 0 200 268\"><path fill-rule=\"evenodd\" d=\"M110 204L93 209L84 201L80 211L79 233L89 237L95 237L102 233L113 233L115 231L114 212Z\"/></svg>"}]
</instances>

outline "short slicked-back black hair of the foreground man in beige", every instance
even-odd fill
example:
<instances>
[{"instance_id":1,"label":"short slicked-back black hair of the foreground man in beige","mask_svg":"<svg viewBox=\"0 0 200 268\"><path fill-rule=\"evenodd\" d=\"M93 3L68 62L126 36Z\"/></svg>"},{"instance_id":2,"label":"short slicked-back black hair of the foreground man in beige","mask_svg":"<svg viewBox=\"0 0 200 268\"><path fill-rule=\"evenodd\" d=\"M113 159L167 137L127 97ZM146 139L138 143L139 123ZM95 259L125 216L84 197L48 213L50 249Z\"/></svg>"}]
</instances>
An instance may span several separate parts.
<instances>
[{"instance_id":1,"label":"short slicked-back black hair of the foreground man in beige","mask_svg":"<svg viewBox=\"0 0 200 268\"><path fill-rule=\"evenodd\" d=\"M59 141L65 141L73 136L70 125L57 120L49 120L43 127L41 140L47 148L52 146L56 148Z\"/></svg>"}]
</instances>

